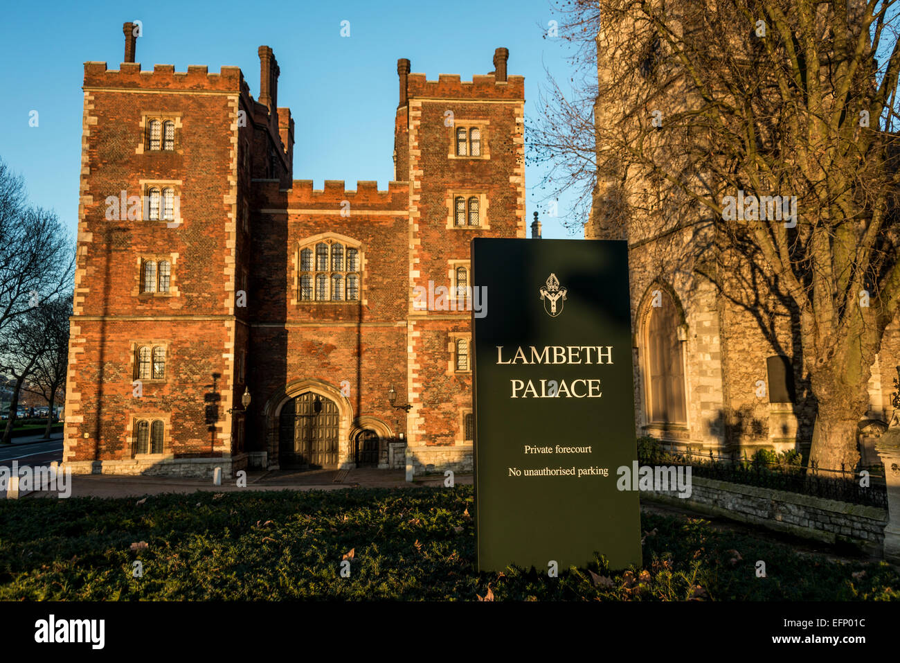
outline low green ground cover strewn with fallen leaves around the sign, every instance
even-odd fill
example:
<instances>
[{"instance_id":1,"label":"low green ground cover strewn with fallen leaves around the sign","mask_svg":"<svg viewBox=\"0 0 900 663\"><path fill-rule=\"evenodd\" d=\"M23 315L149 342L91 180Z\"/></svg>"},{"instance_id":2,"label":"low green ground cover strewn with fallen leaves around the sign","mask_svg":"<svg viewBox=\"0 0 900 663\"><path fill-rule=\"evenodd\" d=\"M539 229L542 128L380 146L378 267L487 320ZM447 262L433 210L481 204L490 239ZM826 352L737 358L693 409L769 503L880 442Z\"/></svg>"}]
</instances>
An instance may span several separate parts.
<instances>
[{"instance_id":1,"label":"low green ground cover strewn with fallen leaves around the sign","mask_svg":"<svg viewBox=\"0 0 900 663\"><path fill-rule=\"evenodd\" d=\"M644 568L610 574L599 559L557 578L477 574L472 486L137 501L0 501L0 599L900 599L900 573L887 564L800 555L700 519L647 513ZM341 577L351 550L351 577Z\"/></svg>"}]
</instances>

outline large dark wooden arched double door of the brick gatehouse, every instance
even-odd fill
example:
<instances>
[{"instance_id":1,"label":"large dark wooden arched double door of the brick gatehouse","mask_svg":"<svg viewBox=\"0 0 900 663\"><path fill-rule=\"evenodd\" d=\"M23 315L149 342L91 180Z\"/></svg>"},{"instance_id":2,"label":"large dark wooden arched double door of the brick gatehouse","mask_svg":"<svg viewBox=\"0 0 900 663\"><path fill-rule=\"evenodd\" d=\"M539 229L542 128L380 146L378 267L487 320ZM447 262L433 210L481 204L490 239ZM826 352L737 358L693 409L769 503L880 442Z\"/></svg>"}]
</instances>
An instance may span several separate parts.
<instances>
[{"instance_id":1,"label":"large dark wooden arched double door of the brick gatehouse","mask_svg":"<svg viewBox=\"0 0 900 663\"><path fill-rule=\"evenodd\" d=\"M278 423L280 467L338 467L340 414L334 401L304 392L282 406Z\"/></svg>"}]
</instances>

